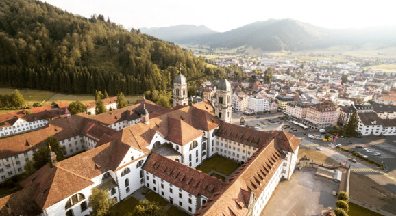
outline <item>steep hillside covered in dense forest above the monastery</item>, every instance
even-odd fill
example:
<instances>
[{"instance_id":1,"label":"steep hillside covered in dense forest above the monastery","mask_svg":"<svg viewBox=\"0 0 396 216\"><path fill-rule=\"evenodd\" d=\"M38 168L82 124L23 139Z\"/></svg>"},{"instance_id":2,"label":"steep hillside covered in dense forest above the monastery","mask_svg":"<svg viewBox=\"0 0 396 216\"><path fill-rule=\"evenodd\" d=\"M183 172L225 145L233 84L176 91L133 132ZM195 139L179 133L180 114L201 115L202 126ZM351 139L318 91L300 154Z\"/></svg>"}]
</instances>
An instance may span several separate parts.
<instances>
[{"instance_id":1,"label":"steep hillside covered in dense forest above the monastery","mask_svg":"<svg viewBox=\"0 0 396 216\"><path fill-rule=\"evenodd\" d=\"M103 15L84 18L41 1L0 1L0 84L68 94L142 94L225 76L203 59Z\"/></svg>"}]
</instances>

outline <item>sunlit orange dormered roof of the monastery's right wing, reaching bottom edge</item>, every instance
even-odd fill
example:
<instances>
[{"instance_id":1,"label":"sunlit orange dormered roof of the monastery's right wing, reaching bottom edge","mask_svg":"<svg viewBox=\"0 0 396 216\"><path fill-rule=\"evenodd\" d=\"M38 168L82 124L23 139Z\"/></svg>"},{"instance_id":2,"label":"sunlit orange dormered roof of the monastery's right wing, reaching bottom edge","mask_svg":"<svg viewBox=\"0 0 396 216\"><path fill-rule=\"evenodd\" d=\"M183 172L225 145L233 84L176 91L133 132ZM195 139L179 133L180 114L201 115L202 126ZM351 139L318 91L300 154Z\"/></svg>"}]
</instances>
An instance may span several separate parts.
<instances>
[{"instance_id":1,"label":"sunlit orange dormered roof of the monastery's right wing, reaching bottom edge","mask_svg":"<svg viewBox=\"0 0 396 216\"><path fill-rule=\"evenodd\" d=\"M259 148L194 215L247 215L251 193L259 197L283 159L274 141Z\"/></svg>"}]
</instances>

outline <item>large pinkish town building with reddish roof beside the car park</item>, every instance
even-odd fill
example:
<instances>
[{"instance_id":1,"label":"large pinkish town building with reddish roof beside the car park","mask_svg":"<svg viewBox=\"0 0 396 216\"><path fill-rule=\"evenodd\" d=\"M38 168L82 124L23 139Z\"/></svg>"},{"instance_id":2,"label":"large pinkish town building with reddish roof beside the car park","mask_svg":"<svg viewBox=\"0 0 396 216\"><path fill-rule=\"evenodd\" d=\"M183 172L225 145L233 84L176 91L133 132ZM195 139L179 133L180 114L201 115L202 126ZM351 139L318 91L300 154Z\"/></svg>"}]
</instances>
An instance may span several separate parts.
<instances>
[{"instance_id":1,"label":"large pinkish town building with reddish roof beside the car park","mask_svg":"<svg viewBox=\"0 0 396 216\"><path fill-rule=\"evenodd\" d=\"M308 106L307 117L304 118L303 123L312 129L324 129L336 125L339 116L340 107L331 100L325 100Z\"/></svg>"}]
</instances>

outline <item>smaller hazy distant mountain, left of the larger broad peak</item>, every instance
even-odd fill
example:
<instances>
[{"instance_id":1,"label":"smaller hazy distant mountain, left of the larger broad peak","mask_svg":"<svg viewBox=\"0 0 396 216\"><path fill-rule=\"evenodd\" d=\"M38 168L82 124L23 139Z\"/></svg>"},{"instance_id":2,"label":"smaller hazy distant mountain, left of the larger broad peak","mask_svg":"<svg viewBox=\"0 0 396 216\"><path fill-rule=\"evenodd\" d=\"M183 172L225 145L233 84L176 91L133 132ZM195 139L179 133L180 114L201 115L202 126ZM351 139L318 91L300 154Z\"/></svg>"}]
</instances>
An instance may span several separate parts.
<instances>
[{"instance_id":1,"label":"smaller hazy distant mountain, left of the larger broad peak","mask_svg":"<svg viewBox=\"0 0 396 216\"><path fill-rule=\"evenodd\" d=\"M176 42L178 44L189 43L190 41L197 40L197 38L201 38L202 36L211 36L218 33L217 31L209 29L205 25L175 25L160 28L141 28L140 31L156 38L169 42Z\"/></svg>"}]
</instances>

